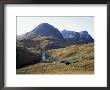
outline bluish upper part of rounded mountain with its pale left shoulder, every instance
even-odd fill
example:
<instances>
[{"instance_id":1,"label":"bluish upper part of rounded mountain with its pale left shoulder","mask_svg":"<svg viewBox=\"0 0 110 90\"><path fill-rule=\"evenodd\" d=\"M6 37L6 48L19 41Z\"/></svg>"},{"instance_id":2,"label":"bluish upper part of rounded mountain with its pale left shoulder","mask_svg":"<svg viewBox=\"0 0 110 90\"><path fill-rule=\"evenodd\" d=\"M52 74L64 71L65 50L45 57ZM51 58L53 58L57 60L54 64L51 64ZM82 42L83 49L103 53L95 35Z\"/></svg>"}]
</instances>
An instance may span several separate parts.
<instances>
[{"instance_id":1,"label":"bluish upper part of rounded mountain with its pale left shoulder","mask_svg":"<svg viewBox=\"0 0 110 90\"><path fill-rule=\"evenodd\" d=\"M37 36L46 36L48 38L64 40L60 31L48 23L41 23L40 25L35 27L31 32L28 32L22 36L18 36L17 39L33 39Z\"/></svg>"}]
</instances>

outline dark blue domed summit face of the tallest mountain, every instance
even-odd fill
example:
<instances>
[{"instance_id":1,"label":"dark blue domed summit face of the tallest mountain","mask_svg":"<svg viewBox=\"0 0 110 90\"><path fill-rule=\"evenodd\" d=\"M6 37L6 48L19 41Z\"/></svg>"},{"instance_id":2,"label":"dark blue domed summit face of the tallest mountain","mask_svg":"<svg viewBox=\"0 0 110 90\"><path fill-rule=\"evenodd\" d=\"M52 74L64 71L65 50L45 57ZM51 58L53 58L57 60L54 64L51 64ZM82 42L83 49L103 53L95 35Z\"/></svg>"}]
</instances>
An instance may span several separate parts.
<instances>
[{"instance_id":1,"label":"dark blue domed summit face of the tallest mountain","mask_svg":"<svg viewBox=\"0 0 110 90\"><path fill-rule=\"evenodd\" d=\"M33 29L32 33L63 40L63 36L60 31L48 23L42 23L38 25L36 28Z\"/></svg>"}]
</instances>

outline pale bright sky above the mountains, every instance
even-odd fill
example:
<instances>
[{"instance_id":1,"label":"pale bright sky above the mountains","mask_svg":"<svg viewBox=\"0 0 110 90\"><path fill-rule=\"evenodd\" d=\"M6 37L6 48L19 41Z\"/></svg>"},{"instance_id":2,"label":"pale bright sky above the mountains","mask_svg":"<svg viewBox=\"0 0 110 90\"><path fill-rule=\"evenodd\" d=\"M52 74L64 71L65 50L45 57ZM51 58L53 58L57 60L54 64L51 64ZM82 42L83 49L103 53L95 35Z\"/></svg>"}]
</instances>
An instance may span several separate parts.
<instances>
[{"instance_id":1,"label":"pale bright sky above the mountains","mask_svg":"<svg viewBox=\"0 0 110 90\"><path fill-rule=\"evenodd\" d=\"M88 31L94 38L94 17L93 16L17 16L17 35L33 30L41 23L49 23L59 31Z\"/></svg>"}]
</instances>

